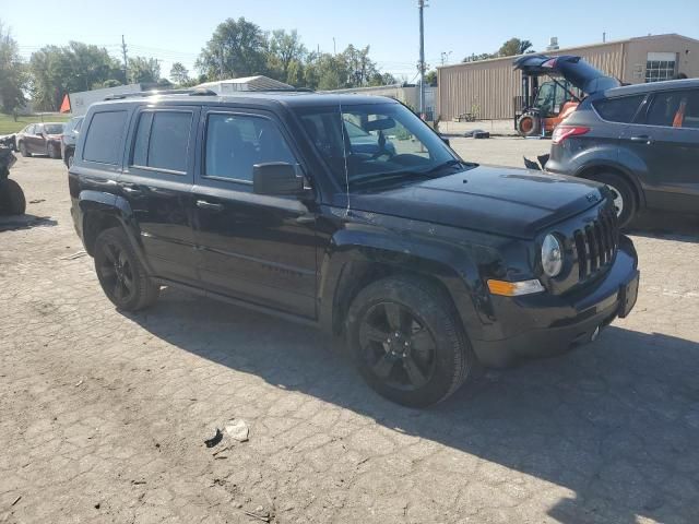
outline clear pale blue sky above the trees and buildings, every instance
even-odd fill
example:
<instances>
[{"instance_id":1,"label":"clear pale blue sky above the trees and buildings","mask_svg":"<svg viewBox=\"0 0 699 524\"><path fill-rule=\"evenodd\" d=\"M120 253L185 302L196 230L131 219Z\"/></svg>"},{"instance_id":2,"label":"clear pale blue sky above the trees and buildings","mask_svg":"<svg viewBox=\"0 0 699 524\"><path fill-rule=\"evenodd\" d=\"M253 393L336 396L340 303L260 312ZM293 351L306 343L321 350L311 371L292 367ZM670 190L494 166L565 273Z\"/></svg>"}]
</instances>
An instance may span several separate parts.
<instances>
[{"instance_id":1,"label":"clear pale blue sky above the trees and buildings","mask_svg":"<svg viewBox=\"0 0 699 524\"><path fill-rule=\"evenodd\" d=\"M10 3L1 0L1 4ZM42 7L50 5L50 9ZM662 33L699 39L699 0L429 0L425 10L426 60L439 64L442 52L460 61L472 52L495 51L518 36L543 50L549 37L561 47ZM17 8L16 2L14 7ZM71 0L67 4L34 2L32 9L1 9L22 53L47 44L81 40L107 47L118 56L121 35L129 52L157 58L163 74L174 61L188 68L215 26L245 16L265 31L298 29L307 47L337 51L352 43L371 46L383 71L412 80L418 58L417 0Z\"/></svg>"}]
</instances>

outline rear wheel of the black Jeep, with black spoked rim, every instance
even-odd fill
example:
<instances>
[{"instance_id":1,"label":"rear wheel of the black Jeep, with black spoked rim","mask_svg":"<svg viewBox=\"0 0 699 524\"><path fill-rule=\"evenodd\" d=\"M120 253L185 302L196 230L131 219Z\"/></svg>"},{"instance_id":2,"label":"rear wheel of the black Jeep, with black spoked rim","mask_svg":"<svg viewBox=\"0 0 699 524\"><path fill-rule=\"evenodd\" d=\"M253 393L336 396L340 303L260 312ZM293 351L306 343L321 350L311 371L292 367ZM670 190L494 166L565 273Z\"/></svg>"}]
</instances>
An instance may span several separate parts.
<instances>
[{"instance_id":1,"label":"rear wheel of the black Jeep, with black spoked rim","mask_svg":"<svg viewBox=\"0 0 699 524\"><path fill-rule=\"evenodd\" d=\"M157 300L161 288L147 276L123 229L102 231L94 253L102 289L118 309L139 311Z\"/></svg>"}]
</instances>

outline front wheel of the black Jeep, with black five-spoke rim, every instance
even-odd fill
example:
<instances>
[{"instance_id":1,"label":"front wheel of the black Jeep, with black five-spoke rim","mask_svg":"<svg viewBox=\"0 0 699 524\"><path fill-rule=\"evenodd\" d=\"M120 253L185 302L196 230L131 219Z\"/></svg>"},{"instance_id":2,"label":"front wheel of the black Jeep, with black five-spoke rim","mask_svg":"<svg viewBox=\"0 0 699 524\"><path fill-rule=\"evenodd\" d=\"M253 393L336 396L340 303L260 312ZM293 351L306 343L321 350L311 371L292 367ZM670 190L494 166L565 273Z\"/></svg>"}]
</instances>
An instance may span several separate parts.
<instances>
[{"instance_id":1,"label":"front wheel of the black Jeep, with black five-spoke rim","mask_svg":"<svg viewBox=\"0 0 699 524\"><path fill-rule=\"evenodd\" d=\"M350 307L346 333L367 384L407 407L443 401L476 364L449 301L415 277L388 277L362 289Z\"/></svg>"}]
</instances>

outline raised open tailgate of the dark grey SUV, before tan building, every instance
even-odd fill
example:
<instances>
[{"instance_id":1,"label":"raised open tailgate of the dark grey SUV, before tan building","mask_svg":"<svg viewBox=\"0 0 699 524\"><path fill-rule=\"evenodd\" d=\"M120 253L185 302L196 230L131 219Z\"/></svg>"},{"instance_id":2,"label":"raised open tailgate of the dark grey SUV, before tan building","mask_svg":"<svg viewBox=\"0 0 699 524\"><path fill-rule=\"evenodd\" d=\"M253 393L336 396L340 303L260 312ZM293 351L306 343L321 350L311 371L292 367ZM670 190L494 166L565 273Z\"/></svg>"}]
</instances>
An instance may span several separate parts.
<instances>
[{"instance_id":1,"label":"raised open tailgate of the dark grey SUV, before tan building","mask_svg":"<svg viewBox=\"0 0 699 524\"><path fill-rule=\"evenodd\" d=\"M514 69L524 74L562 76L583 93L591 95L597 91L606 91L621 85L618 80L607 76L593 68L580 57L561 55L524 55L514 60Z\"/></svg>"}]
</instances>

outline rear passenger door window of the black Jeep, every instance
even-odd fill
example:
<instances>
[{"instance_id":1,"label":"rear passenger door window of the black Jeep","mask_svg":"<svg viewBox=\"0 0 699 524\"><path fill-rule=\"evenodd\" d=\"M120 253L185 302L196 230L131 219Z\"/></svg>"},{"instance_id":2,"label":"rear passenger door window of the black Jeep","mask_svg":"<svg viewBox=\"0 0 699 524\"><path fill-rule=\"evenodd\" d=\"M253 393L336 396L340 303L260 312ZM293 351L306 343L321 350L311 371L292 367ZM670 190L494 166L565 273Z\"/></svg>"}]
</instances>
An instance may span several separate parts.
<instances>
[{"instance_id":1,"label":"rear passenger door window of the black Jeep","mask_svg":"<svg viewBox=\"0 0 699 524\"><path fill-rule=\"evenodd\" d=\"M133 166L187 172L190 111L142 112L133 141Z\"/></svg>"}]
</instances>

